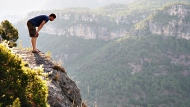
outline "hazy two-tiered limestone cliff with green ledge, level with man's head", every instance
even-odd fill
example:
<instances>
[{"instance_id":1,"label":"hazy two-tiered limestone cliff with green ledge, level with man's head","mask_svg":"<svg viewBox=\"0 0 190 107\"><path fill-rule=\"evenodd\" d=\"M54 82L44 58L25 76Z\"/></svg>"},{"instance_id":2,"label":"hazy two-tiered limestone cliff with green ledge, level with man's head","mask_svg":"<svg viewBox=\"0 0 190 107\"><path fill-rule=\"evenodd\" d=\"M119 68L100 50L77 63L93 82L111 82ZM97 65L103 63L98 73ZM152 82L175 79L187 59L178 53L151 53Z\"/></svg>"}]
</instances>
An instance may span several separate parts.
<instances>
[{"instance_id":1,"label":"hazy two-tiered limestone cliff with green ledge, level with man's head","mask_svg":"<svg viewBox=\"0 0 190 107\"><path fill-rule=\"evenodd\" d=\"M38 14L39 13L33 13L28 17L34 17ZM85 39L112 40L126 36L129 32L129 28L134 23L140 21L138 18L129 20L127 16L116 16L115 18L110 19L107 16L91 13L77 14L72 12L60 12L56 14L56 20L52 23L48 22L41 32L59 36L78 36Z\"/></svg>"}]
</instances>

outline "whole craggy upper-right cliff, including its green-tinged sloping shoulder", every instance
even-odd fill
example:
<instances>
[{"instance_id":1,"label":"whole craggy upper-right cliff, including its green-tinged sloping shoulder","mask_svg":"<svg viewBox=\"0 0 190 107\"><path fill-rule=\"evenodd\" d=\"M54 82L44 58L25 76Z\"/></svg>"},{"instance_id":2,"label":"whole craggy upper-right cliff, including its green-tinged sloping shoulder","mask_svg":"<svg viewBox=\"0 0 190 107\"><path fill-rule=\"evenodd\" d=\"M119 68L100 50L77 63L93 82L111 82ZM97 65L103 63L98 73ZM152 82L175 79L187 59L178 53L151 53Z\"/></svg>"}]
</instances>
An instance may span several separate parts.
<instances>
[{"instance_id":1,"label":"whole craggy upper-right cliff, including its green-tinged sloping shoulder","mask_svg":"<svg viewBox=\"0 0 190 107\"><path fill-rule=\"evenodd\" d=\"M144 25L146 32L152 34L190 39L189 16L190 6L178 4L157 11ZM135 31L135 35L145 35L142 30Z\"/></svg>"}]
</instances>

